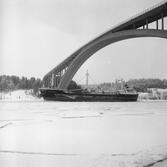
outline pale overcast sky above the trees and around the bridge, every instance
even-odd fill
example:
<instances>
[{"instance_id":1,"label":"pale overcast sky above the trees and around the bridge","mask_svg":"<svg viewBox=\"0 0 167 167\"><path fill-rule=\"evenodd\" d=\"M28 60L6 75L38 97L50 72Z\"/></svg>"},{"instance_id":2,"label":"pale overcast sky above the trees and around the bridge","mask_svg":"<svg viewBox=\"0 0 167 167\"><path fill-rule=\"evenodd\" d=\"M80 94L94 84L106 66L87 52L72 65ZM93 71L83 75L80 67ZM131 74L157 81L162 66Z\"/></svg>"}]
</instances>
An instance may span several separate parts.
<instances>
[{"instance_id":1,"label":"pale overcast sky above the trees and around the bridge","mask_svg":"<svg viewBox=\"0 0 167 167\"><path fill-rule=\"evenodd\" d=\"M79 47L161 0L0 0L0 75L43 76ZM165 19L167 28L167 19ZM92 84L167 78L167 41L138 38L111 44L74 76Z\"/></svg>"}]
</instances>

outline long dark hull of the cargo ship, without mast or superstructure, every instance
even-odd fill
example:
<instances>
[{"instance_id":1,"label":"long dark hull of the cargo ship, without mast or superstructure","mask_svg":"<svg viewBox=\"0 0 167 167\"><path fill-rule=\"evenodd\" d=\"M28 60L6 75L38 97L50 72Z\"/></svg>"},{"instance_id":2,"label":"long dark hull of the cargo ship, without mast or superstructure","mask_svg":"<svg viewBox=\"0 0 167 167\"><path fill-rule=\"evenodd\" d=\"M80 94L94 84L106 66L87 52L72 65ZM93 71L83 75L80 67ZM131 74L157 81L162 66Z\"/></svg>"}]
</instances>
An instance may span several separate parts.
<instances>
[{"instance_id":1,"label":"long dark hull of the cargo ship, without mast or superstructure","mask_svg":"<svg viewBox=\"0 0 167 167\"><path fill-rule=\"evenodd\" d=\"M83 93L65 92L57 89L40 89L44 100L49 101L85 101L85 102L128 102L137 101L137 93Z\"/></svg>"}]
</instances>

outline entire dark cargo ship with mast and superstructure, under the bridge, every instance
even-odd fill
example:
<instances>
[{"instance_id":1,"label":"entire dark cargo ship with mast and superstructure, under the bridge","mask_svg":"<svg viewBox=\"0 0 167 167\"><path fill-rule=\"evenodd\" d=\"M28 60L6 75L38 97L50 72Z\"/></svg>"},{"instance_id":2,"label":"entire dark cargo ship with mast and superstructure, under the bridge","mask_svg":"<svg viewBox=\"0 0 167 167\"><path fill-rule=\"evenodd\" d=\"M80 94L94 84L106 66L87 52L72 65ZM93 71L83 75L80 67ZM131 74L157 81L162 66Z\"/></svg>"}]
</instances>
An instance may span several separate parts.
<instances>
[{"instance_id":1,"label":"entire dark cargo ship with mast and superstructure, under the bridge","mask_svg":"<svg viewBox=\"0 0 167 167\"><path fill-rule=\"evenodd\" d=\"M86 72L86 88L60 90L54 88L41 88L41 96L50 101L85 101L85 102L124 102L137 101L138 93L121 79L116 80L116 89L112 92L89 89L89 73ZM119 85L119 88L118 88Z\"/></svg>"}]
</instances>

